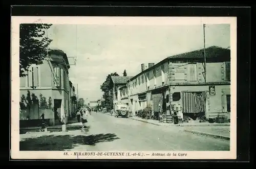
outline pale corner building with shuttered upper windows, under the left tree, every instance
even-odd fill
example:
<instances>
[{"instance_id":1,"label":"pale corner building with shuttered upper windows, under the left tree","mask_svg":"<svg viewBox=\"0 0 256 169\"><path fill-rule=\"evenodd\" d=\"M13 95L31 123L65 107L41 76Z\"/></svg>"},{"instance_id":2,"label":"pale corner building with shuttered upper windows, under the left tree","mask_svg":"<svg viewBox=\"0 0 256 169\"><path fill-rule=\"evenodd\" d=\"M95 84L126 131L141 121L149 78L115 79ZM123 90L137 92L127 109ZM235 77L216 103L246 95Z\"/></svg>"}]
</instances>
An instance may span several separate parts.
<instances>
[{"instance_id":1,"label":"pale corner building with shuttered upper windows, under the left tree","mask_svg":"<svg viewBox=\"0 0 256 169\"><path fill-rule=\"evenodd\" d=\"M40 125L44 113L47 125L68 121L69 61L59 50L50 51L49 57L29 67L28 75L20 78L20 127Z\"/></svg>"}]
</instances>

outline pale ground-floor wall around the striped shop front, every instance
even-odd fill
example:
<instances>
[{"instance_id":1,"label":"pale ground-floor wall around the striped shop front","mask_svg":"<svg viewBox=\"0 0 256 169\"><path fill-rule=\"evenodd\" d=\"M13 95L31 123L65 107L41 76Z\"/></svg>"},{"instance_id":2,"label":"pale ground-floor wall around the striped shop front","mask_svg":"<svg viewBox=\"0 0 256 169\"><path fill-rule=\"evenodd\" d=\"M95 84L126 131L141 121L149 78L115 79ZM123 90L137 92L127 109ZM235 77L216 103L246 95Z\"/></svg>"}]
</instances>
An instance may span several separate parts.
<instances>
[{"instance_id":1,"label":"pale ground-floor wall around the striped shop front","mask_svg":"<svg viewBox=\"0 0 256 169\"><path fill-rule=\"evenodd\" d=\"M206 118L216 117L219 115L227 116L226 108L226 94L230 94L230 85L215 85L216 95L209 95L209 86L172 86L169 91L170 102L172 102L172 93L181 92L181 91L206 91L207 100L206 100ZM180 101L173 102L171 104L179 104ZM181 105L182 107L182 105ZM223 108L224 107L224 108Z\"/></svg>"}]
</instances>

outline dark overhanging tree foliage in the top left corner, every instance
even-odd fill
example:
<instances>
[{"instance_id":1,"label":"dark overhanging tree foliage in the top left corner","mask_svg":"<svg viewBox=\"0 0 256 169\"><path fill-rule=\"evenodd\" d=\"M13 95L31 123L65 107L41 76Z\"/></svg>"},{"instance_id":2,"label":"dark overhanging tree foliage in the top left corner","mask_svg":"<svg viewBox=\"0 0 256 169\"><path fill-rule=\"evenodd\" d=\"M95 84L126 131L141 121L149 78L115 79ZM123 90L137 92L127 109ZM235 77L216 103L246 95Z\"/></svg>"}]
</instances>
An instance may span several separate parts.
<instances>
[{"instance_id":1,"label":"dark overhanging tree foliage in the top left corner","mask_svg":"<svg viewBox=\"0 0 256 169\"><path fill-rule=\"evenodd\" d=\"M31 64L40 64L47 56L51 39L44 37L52 25L23 23L19 25L19 77L26 76Z\"/></svg>"}]
</instances>

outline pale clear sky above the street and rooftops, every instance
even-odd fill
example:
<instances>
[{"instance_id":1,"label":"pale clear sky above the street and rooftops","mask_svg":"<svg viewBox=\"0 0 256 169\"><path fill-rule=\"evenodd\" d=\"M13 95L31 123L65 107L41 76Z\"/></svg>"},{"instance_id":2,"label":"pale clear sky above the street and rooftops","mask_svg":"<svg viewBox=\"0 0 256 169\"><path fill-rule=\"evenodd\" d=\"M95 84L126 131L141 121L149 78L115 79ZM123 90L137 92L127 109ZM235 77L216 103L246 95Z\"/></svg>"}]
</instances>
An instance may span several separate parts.
<instances>
[{"instance_id":1,"label":"pale clear sky above the street and rooftops","mask_svg":"<svg viewBox=\"0 0 256 169\"><path fill-rule=\"evenodd\" d=\"M117 72L135 76L142 63L157 63L168 56L203 49L203 25L53 25L48 30L51 49L65 52L71 65L70 81L78 84L79 98L96 101L100 85ZM230 46L230 26L206 25L205 46Z\"/></svg>"}]
</instances>

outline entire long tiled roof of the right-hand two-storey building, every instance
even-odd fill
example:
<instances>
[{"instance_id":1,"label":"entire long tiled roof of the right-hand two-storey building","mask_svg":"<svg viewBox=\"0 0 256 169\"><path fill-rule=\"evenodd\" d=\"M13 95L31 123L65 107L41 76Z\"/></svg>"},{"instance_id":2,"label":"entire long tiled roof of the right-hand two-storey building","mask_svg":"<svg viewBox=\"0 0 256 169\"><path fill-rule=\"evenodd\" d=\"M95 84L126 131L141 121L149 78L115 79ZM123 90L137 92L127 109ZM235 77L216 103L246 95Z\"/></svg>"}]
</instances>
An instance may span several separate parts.
<instances>
[{"instance_id":1,"label":"entire long tiled roof of the right-hand two-storey building","mask_svg":"<svg viewBox=\"0 0 256 169\"><path fill-rule=\"evenodd\" d=\"M228 57L230 60L230 50L229 49L225 49L223 47L219 47L219 46L210 46L205 48L205 54L206 54L206 58L222 58L222 57ZM186 52L186 53L182 53L182 54L177 54L177 55L173 55L173 56L169 56L163 60L161 60L160 62L158 62L157 64L155 64L152 67L149 67L147 69L145 69L144 71L141 71L139 74L137 74L136 76L134 76L133 78L131 78L130 80L133 80L135 78L137 78L138 76L142 75L143 73L145 73L148 70L154 69L155 67L159 66L160 64L167 62L168 60L173 60L173 59L203 59L204 58L204 49L200 49L200 50L196 50L196 51L191 51L191 52ZM128 80L126 81L128 82Z\"/></svg>"}]
</instances>

